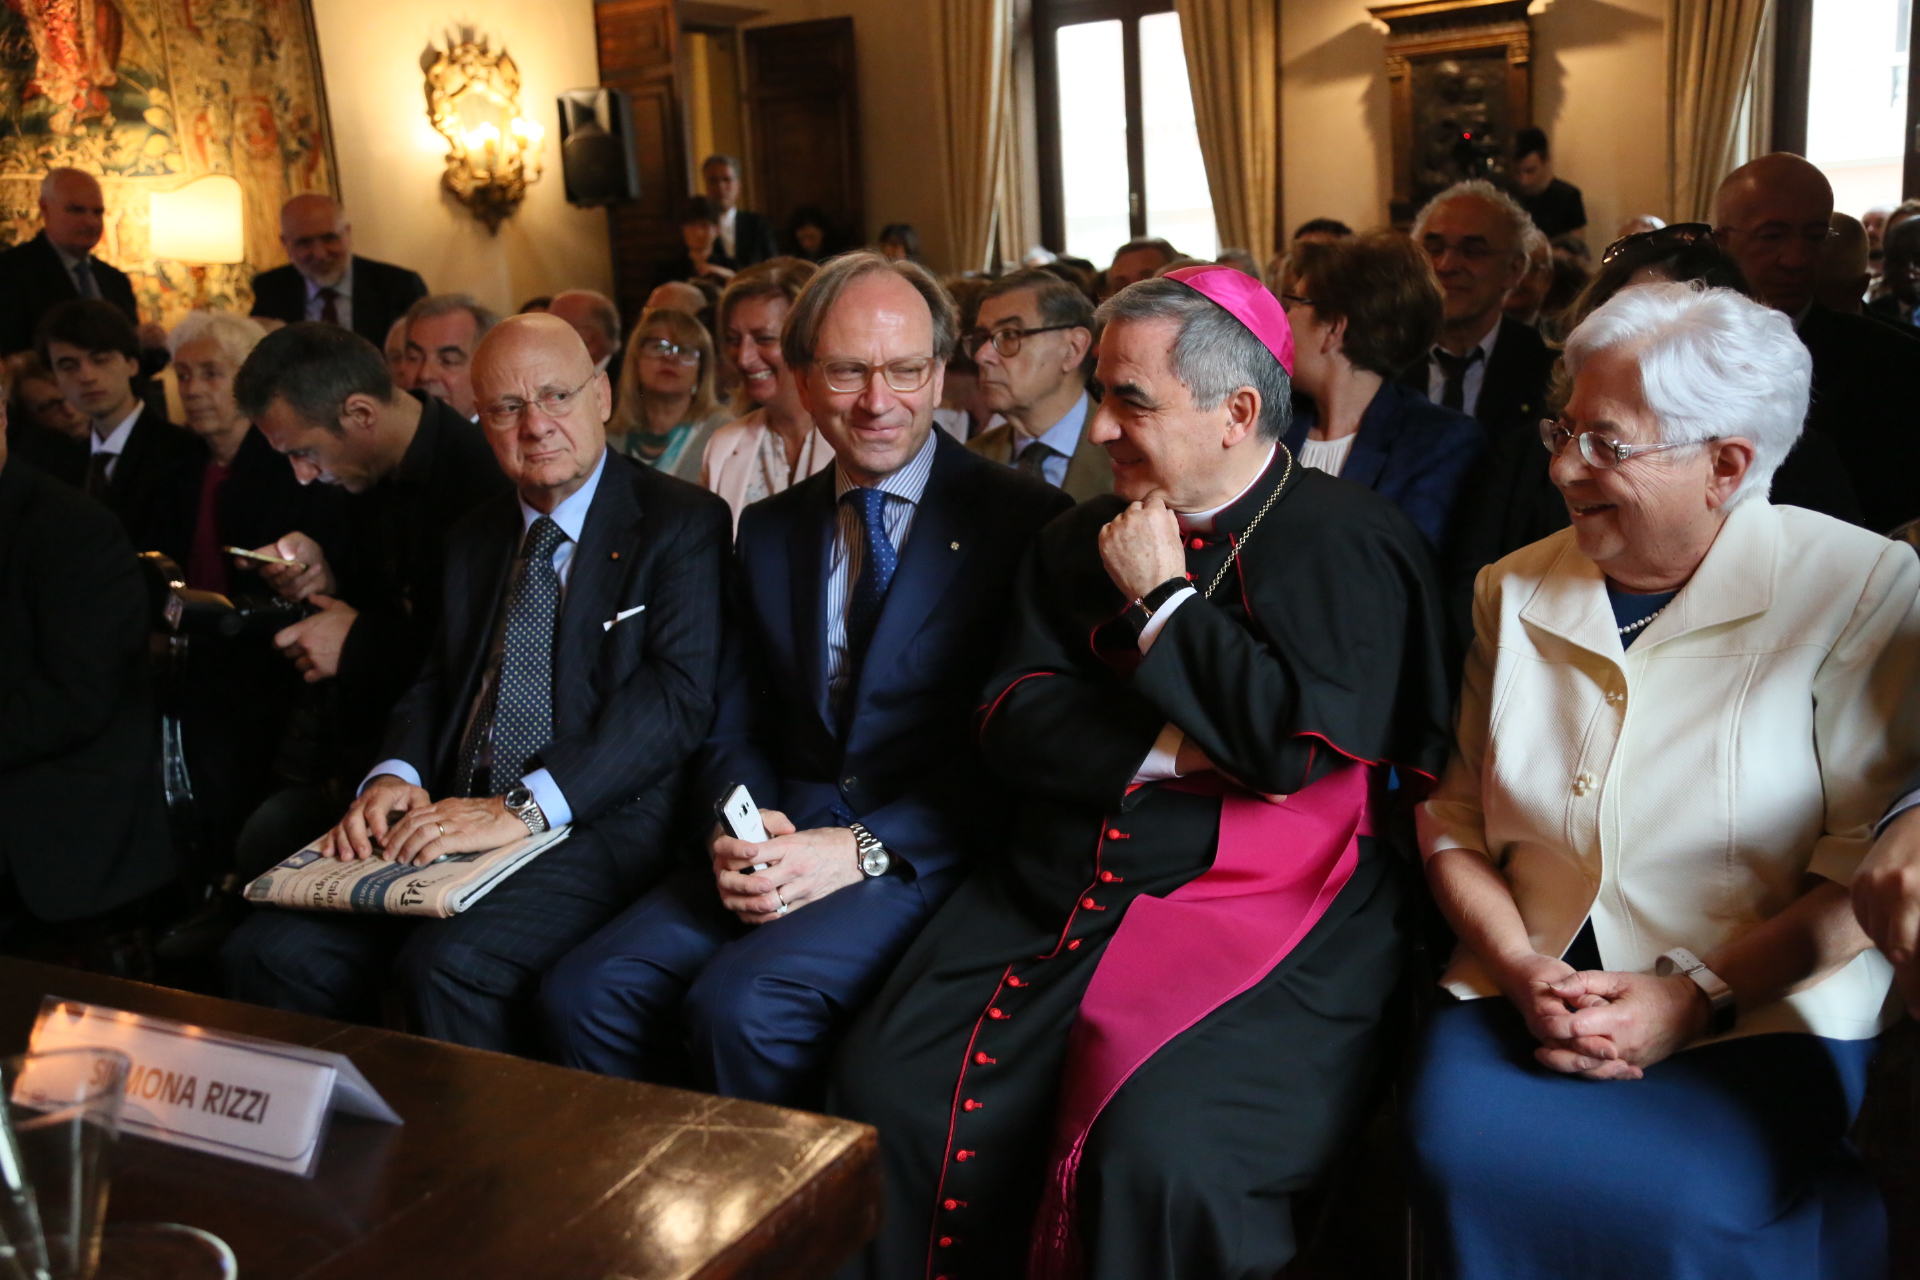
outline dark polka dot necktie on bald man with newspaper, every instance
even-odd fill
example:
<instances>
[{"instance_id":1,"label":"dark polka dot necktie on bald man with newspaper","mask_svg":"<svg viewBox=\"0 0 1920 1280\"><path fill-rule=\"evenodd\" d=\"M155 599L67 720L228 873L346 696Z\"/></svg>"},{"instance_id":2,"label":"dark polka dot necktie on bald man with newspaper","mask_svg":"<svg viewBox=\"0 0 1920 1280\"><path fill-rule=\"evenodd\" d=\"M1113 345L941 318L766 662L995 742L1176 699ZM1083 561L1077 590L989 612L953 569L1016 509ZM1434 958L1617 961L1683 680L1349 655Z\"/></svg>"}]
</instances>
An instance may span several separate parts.
<instances>
[{"instance_id":1,"label":"dark polka dot necktie on bald man with newspaper","mask_svg":"<svg viewBox=\"0 0 1920 1280\"><path fill-rule=\"evenodd\" d=\"M520 781L526 762L553 739L553 622L561 612L561 576L553 570L553 549L563 541L566 533L551 518L534 520L507 597L499 685L493 693L493 768L488 775L488 791L495 796ZM476 733L474 739L484 735ZM480 745L470 743L472 756L478 756Z\"/></svg>"}]
</instances>

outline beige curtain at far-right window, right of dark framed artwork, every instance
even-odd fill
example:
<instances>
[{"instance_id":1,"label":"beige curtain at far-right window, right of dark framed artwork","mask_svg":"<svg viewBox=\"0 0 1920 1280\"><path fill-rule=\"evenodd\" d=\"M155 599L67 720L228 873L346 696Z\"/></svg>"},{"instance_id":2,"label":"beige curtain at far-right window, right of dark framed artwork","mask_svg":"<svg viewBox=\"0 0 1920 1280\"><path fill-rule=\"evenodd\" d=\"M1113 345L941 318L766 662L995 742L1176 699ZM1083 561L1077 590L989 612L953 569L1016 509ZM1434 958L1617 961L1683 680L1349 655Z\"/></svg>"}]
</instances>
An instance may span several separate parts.
<instances>
[{"instance_id":1,"label":"beige curtain at far-right window, right of dark framed artwork","mask_svg":"<svg viewBox=\"0 0 1920 1280\"><path fill-rule=\"evenodd\" d=\"M1672 0L1667 203L1676 223L1711 223L1720 178L1743 159L1741 106L1764 17L1766 0Z\"/></svg>"}]
</instances>

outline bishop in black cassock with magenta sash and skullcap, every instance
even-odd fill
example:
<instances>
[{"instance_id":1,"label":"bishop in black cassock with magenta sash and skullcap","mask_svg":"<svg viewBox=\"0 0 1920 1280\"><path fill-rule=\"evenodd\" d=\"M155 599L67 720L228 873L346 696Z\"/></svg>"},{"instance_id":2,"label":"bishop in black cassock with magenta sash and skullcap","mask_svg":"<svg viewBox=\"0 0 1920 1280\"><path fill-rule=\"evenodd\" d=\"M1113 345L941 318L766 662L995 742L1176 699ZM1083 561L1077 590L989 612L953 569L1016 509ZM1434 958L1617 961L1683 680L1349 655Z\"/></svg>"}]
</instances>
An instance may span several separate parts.
<instances>
[{"instance_id":1,"label":"bishop in black cassock with magenta sash and skullcap","mask_svg":"<svg viewBox=\"0 0 1920 1280\"><path fill-rule=\"evenodd\" d=\"M1379 1079L1411 865L1371 833L1448 743L1428 551L1279 443L1250 276L1104 311L1117 495L1039 535L981 708L1014 837L837 1069L881 1134L872 1280L1277 1274ZM1194 351L1244 370L1215 407Z\"/></svg>"}]
</instances>

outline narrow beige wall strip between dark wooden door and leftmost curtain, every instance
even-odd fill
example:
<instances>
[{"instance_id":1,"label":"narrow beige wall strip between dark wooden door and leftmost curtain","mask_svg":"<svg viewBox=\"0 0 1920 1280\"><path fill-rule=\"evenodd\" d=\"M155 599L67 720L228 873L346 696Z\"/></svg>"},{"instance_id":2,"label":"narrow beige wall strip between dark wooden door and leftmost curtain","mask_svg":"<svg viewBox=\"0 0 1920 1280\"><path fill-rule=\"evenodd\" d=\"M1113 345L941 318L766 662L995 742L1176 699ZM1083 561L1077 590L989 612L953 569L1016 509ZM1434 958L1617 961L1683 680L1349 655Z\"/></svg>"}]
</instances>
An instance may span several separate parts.
<instances>
[{"instance_id":1,"label":"narrow beige wall strip between dark wooden door and leftmost curtain","mask_svg":"<svg viewBox=\"0 0 1920 1280\"><path fill-rule=\"evenodd\" d=\"M1288 0L1290 2L1290 0ZM860 159L866 167L866 234L912 223L935 271L952 269L947 226L947 165L941 157L929 0L756 0L766 15L751 25L852 17L860 65Z\"/></svg>"}]
</instances>

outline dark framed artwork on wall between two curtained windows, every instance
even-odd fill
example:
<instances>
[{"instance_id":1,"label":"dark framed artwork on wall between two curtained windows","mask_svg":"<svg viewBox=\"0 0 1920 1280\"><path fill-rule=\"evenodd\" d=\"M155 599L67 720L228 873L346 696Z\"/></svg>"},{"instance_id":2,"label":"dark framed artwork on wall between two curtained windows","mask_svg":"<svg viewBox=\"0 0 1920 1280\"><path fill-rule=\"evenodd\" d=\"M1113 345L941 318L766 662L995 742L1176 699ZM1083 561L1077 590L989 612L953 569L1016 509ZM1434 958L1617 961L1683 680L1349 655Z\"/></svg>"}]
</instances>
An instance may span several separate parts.
<instances>
[{"instance_id":1,"label":"dark framed artwork on wall between two curtained windows","mask_svg":"<svg viewBox=\"0 0 1920 1280\"><path fill-rule=\"evenodd\" d=\"M1394 225L1463 178L1507 184L1532 123L1526 0L1415 0L1367 10L1386 25Z\"/></svg>"}]
</instances>

